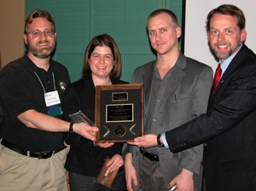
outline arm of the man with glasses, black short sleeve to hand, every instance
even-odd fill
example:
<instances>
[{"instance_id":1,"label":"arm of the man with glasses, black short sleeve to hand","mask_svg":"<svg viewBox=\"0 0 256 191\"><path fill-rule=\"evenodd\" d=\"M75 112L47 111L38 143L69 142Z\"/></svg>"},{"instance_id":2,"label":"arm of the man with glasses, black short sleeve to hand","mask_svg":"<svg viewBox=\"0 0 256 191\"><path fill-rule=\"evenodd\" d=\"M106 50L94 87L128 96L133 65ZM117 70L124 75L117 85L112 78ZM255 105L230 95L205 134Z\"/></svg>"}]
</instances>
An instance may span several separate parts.
<instances>
[{"instance_id":1,"label":"arm of the man with glasses, black short sleeve to hand","mask_svg":"<svg viewBox=\"0 0 256 191\"><path fill-rule=\"evenodd\" d=\"M26 72L26 75L24 73L21 75L21 72L15 71L14 68L8 69L1 73L0 89L4 92L1 94L1 101L8 103L5 105L6 113L13 117L13 121L25 124L24 127L27 128L52 132L68 131L69 122L44 114L47 109L44 103L44 92L42 91L42 94L38 95L38 92L34 91L36 84L26 83L26 79L36 78L34 74L29 71L21 71ZM93 135L97 128L80 123L74 124L73 130L94 140Z\"/></svg>"}]
</instances>

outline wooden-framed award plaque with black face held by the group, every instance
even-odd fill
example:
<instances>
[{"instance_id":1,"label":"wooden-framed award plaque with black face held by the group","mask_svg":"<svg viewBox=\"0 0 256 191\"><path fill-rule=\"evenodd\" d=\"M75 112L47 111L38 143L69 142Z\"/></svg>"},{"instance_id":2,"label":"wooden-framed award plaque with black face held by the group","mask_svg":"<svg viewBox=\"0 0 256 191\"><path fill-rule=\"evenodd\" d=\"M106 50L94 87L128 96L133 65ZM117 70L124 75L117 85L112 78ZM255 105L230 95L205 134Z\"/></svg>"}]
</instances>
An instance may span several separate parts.
<instances>
[{"instance_id":1,"label":"wooden-framed award plaque with black face held by the group","mask_svg":"<svg viewBox=\"0 0 256 191\"><path fill-rule=\"evenodd\" d=\"M143 136L143 84L96 86L97 142L129 142Z\"/></svg>"}]
</instances>

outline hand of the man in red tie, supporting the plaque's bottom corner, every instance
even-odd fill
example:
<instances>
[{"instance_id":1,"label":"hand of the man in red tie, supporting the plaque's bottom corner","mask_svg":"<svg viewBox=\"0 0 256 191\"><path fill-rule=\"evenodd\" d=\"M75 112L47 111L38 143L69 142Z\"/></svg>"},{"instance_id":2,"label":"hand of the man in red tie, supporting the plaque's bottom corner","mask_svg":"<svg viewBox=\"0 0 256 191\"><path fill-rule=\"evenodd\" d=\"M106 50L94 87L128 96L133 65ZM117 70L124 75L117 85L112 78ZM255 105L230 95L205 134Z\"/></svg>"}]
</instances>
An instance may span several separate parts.
<instances>
[{"instance_id":1,"label":"hand of the man in red tie, supporting the plaque's bottom corner","mask_svg":"<svg viewBox=\"0 0 256 191\"><path fill-rule=\"evenodd\" d=\"M140 148L153 148L157 146L156 135L147 134L145 136L138 136L134 139L134 142L127 142L131 145L136 145Z\"/></svg>"}]
</instances>

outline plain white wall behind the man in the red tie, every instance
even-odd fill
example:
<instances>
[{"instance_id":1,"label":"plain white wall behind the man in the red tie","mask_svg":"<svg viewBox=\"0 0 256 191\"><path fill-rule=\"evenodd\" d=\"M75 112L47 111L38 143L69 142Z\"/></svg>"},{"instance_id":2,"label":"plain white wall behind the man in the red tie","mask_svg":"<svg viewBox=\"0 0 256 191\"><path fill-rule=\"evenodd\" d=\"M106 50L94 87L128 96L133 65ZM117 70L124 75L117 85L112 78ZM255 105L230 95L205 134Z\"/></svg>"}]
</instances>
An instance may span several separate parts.
<instances>
[{"instance_id":1,"label":"plain white wall behind the man in the red tie","mask_svg":"<svg viewBox=\"0 0 256 191\"><path fill-rule=\"evenodd\" d=\"M246 17L247 46L256 53L256 1L255 0L187 0L184 54L212 67L214 60L207 44L207 14L221 4L234 4Z\"/></svg>"}]
</instances>

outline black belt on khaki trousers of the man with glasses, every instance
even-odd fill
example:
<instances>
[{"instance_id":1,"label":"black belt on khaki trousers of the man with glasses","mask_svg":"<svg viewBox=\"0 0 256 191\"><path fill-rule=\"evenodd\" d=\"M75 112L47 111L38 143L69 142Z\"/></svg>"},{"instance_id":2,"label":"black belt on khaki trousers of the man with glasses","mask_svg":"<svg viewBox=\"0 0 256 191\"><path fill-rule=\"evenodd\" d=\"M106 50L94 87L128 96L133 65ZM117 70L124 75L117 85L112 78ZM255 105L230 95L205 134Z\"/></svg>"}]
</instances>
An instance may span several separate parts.
<instances>
[{"instance_id":1,"label":"black belt on khaki trousers of the man with glasses","mask_svg":"<svg viewBox=\"0 0 256 191\"><path fill-rule=\"evenodd\" d=\"M13 143L8 142L4 139L2 140L1 144L6 148L9 148L9 149L15 151L16 153L20 153L20 154L23 154L25 156L32 157L32 158L38 158L38 159L48 159L52 155L54 155L55 153L60 152L64 148L67 148L66 146L62 146L61 148L59 148L55 151L46 151L46 152L41 152L41 153L33 153L31 151L26 151L22 148L19 148L19 147L15 146Z\"/></svg>"}]
</instances>

